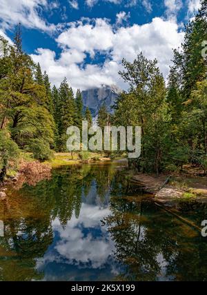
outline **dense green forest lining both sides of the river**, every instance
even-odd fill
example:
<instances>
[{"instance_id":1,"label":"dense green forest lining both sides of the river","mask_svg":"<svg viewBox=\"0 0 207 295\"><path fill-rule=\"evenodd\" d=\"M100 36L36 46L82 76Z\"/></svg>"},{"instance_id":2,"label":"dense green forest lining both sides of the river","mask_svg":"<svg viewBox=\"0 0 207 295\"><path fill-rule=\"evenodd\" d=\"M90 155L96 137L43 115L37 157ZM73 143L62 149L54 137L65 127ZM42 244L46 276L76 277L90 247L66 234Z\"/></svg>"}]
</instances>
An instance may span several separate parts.
<instances>
[{"instance_id":1,"label":"dense green forest lining both sides of the river","mask_svg":"<svg viewBox=\"0 0 207 295\"><path fill-rule=\"evenodd\" d=\"M207 173L207 1L185 27L184 42L174 50L168 81L157 60L140 52L137 59L123 59L120 76L128 91L118 96L113 112L99 110L97 125L141 126L141 157L134 159L139 172L159 174L179 171L184 165ZM81 128L92 115L83 108L81 90L75 95L67 79L57 89L46 72L23 52L21 26L14 42L1 37L0 52L0 181L10 166L18 169L22 153L39 161L66 152L66 130ZM114 158L124 154L108 152Z\"/></svg>"}]
</instances>

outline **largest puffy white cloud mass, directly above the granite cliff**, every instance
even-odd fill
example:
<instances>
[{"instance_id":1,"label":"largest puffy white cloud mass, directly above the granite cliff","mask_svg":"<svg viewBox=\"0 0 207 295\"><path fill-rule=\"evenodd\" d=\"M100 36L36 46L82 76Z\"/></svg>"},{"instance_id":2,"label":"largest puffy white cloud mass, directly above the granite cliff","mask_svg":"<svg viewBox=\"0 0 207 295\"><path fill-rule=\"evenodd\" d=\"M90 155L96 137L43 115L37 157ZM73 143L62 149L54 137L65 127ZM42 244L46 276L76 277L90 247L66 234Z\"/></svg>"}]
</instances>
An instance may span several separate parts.
<instances>
[{"instance_id":1,"label":"largest puffy white cloud mass, directly above the granite cliff","mask_svg":"<svg viewBox=\"0 0 207 295\"><path fill-rule=\"evenodd\" d=\"M179 47L183 38L184 33L179 32L172 19L157 17L151 23L126 28L113 28L104 19L88 23L79 21L72 23L57 38L61 47L59 59L56 59L55 52L42 48L32 54L32 58L41 64L56 85L67 77L74 89L85 90L102 84L124 88L126 85L118 74L123 58L133 61L142 51L148 59L157 58L161 72L167 77L172 48ZM105 54L104 63L86 63L86 54L93 58L97 52Z\"/></svg>"}]
</instances>

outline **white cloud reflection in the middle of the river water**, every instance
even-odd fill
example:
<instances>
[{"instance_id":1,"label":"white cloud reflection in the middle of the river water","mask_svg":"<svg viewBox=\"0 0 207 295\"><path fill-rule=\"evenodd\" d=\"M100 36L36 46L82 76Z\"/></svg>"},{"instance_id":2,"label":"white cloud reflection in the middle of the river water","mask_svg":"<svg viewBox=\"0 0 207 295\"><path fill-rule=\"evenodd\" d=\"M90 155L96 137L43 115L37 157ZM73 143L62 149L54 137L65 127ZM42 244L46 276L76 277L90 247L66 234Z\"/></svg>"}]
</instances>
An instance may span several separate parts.
<instances>
[{"instance_id":1,"label":"white cloud reflection in the middle of the river water","mask_svg":"<svg viewBox=\"0 0 207 295\"><path fill-rule=\"evenodd\" d=\"M53 261L63 259L64 263L79 265L80 268L101 268L107 263L108 258L115 250L115 245L107 234L106 227L101 227L100 220L108 216L108 208L100 210L97 205L82 204L79 218L72 215L66 228L62 228L59 220L52 223L52 227L59 233L60 240L55 245L57 250ZM96 229L101 232L100 236L91 233L84 234L85 229ZM49 256L49 261L51 257ZM46 257L44 263L47 263ZM89 265L90 264L90 265Z\"/></svg>"}]
</instances>

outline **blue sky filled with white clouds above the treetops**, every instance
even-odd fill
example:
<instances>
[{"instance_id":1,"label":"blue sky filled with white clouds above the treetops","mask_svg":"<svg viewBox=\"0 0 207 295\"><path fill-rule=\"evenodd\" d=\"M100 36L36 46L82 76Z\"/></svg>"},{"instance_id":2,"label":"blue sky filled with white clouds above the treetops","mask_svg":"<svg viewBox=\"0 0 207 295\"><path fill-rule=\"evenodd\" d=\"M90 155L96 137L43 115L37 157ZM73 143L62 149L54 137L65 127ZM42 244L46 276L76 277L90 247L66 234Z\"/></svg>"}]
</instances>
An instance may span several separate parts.
<instances>
[{"instance_id":1,"label":"blue sky filled with white clouds above the treetops","mask_svg":"<svg viewBox=\"0 0 207 295\"><path fill-rule=\"evenodd\" d=\"M172 48L199 0L0 0L0 34L12 39L21 22L23 48L57 86L75 90L115 84L121 59L143 51L168 75Z\"/></svg>"}]
</instances>

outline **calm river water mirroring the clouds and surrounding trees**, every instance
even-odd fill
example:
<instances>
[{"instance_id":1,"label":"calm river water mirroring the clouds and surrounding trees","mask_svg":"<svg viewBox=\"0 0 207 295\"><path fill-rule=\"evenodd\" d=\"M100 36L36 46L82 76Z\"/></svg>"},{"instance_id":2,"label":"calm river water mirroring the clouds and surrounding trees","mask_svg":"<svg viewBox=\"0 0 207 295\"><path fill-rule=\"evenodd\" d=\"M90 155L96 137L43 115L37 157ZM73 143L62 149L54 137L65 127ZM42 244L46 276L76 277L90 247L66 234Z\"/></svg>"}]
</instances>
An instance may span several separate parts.
<instances>
[{"instance_id":1,"label":"calm river water mirroring the clouds and surrounding trees","mask_svg":"<svg viewBox=\"0 0 207 295\"><path fill-rule=\"evenodd\" d=\"M115 163L62 167L0 203L1 281L207 281L207 238L125 179ZM205 206L181 203L196 225Z\"/></svg>"}]
</instances>

